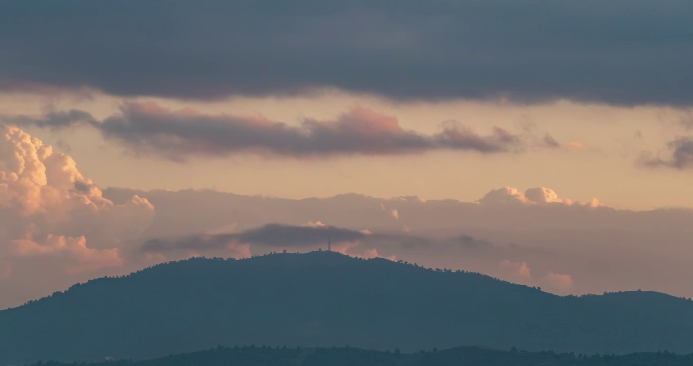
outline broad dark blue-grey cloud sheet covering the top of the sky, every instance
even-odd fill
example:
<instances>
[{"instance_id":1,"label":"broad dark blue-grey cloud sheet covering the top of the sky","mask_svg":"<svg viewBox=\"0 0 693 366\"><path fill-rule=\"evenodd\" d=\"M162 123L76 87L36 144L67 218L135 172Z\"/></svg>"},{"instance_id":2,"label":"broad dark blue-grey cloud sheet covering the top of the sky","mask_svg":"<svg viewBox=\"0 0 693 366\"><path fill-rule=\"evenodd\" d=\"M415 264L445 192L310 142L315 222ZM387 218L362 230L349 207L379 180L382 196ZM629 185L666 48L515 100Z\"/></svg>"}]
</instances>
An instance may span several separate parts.
<instances>
[{"instance_id":1,"label":"broad dark blue-grey cloud sheet covering the top of the sky","mask_svg":"<svg viewBox=\"0 0 693 366\"><path fill-rule=\"evenodd\" d=\"M693 2L11 1L0 89L693 103Z\"/></svg>"}]
</instances>

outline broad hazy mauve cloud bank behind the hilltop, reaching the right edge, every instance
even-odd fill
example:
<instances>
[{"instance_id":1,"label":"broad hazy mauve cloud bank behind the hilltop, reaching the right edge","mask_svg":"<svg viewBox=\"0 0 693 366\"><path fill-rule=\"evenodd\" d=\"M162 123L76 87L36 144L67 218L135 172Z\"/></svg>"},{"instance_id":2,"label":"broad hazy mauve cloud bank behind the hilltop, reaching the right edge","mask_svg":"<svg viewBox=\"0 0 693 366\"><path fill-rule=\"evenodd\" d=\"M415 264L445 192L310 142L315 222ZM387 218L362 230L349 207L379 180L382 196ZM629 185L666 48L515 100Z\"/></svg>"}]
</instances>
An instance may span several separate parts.
<instances>
[{"instance_id":1,"label":"broad hazy mauve cloud bank behind the hilltop, reaching the right edge","mask_svg":"<svg viewBox=\"0 0 693 366\"><path fill-rule=\"evenodd\" d=\"M541 196L544 201L550 201L545 197L554 196L545 188ZM414 198L401 200L357 194L296 200L192 189L107 189L104 195L116 203L125 202L132 195L148 198L157 207L157 216L143 234L147 238L193 236L228 223L238 223L234 230L238 234L266 223L301 226L319 219L335 227L369 230L371 234L358 241L333 241L333 250L349 246L346 252L350 255L363 255L365 250L376 249L382 256L396 255L397 259L418 262L427 268L460 269L504 279L500 275L501 261L525 262L531 268L532 286L555 293L559 292L545 279L549 272L570 275L574 284L569 292L576 295L642 288L693 296L689 284L683 280L693 276L690 246L693 210L631 211L602 204L593 207L588 200L581 204L568 200L574 197L563 197L559 191L554 193L562 202L534 203L527 198L531 194L525 189L510 191L521 193L526 201L421 202ZM385 210L380 209L380 204ZM406 215L401 215L399 220L392 219L388 213L394 207ZM405 225L410 232L403 232ZM89 237L87 243L93 243ZM318 247L324 249L326 240L295 247L249 244L252 254L281 252L284 248L306 252ZM187 252L168 251L159 258L179 259ZM225 248L195 252L205 256L236 256ZM137 254L146 256L139 250ZM15 265L13 270L17 268Z\"/></svg>"}]
</instances>

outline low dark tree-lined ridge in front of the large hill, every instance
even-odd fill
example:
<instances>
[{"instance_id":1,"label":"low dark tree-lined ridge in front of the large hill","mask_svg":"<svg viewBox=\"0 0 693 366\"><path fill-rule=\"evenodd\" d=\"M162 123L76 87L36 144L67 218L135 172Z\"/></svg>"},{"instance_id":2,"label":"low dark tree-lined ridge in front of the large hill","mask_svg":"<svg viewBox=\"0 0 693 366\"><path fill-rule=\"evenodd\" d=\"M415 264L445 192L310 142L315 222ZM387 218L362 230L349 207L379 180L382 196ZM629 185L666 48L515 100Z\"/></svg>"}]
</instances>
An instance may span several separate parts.
<instances>
[{"instance_id":1,"label":"low dark tree-lined ridge in front of the large hill","mask_svg":"<svg viewBox=\"0 0 693 366\"><path fill-rule=\"evenodd\" d=\"M367 351L350 347L341 348L286 348L286 347L217 347L209 351L179 354L154 360L132 362L112 360L88 366L689 366L693 355L669 352L614 355L556 354L553 351L509 352L477 347L457 347L444 351L419 351L414 354L389 351ZM71 364L44 363L33 366L71 366Z\"/></svg>"}]
</instances>

